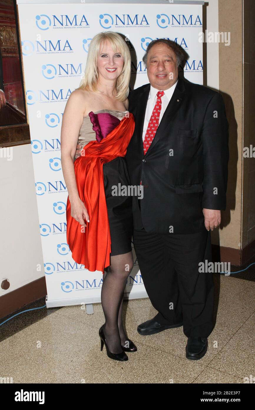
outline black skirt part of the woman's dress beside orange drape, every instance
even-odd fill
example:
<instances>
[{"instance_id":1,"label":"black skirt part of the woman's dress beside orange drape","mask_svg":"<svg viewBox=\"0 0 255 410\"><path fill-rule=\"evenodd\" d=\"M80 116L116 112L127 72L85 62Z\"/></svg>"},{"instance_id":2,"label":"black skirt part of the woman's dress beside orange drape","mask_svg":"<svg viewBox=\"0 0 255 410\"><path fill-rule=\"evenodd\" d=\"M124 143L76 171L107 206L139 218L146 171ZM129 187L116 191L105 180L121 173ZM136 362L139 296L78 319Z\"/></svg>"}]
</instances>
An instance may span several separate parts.
<instances>
[{"instance_id":1,"label":"black skirt part of the woman's dress beside orange drape","mask_svg":"<svg viewBox=\"0 0 255 410\"><path fill-rule=\"evenodd\" d=\"M117 157L103 165L104 190L111 233L111 256L122 255L132 250L133 233L132 196L113 195L119 184L130 184L126 160Z\"/></svg>"}]
</instances>

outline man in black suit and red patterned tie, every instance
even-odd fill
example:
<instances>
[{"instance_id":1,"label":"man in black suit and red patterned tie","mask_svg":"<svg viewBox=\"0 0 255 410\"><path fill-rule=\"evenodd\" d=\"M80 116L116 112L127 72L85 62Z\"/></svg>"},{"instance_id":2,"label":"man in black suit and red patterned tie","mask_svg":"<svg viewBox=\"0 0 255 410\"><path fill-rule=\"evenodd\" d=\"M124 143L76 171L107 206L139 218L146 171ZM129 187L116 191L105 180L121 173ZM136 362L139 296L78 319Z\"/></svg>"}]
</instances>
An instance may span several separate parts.
<instances>
[{"instance_id":1,"label":"man in black suit and red patterned tie","mask_svg":"<svg viewBox=\"0 0 255 410\"><path fill-rule=\"evenodd\" d=\"M182 51L152 41L143 61L149 84L129 93L135 131L126 153L133 197L133 242L145 289L158 311L141 335L183 326L186 358L202 358L213 328L210 230L226 208L228 121L221 95L178 76ZM161 91L158 93L157 91ZM163 91L163 92L162 92Z\"/></svg>"}]
</instances>

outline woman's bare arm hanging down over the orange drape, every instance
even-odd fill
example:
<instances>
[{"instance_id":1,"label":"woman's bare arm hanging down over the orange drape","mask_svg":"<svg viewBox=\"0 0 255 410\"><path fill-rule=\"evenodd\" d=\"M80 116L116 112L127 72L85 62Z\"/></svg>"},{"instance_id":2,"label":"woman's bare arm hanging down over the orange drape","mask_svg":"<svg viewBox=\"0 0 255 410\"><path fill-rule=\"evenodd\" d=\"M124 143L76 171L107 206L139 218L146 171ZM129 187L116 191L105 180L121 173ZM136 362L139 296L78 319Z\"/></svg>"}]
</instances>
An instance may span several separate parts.
<instances>
[{"instance_id":1,"label":"woman's bare arm hanging down over the orange drape","mask_svg":"<svg viewBox=\"0 0 255 410\"><path fill-rule=\"evenodd\" d=\"M81 224L85 225L83 216L89 221L85 205L79 198L74 173L74 155L76 152L79 131L83 121L85 99L81 90L70 94L65 105L61 126L61 165L72 212L71 215ZM82 206L83 205L83 206ZM84 212L83 212L84 211Z\"/></svg>"}]
</instances>

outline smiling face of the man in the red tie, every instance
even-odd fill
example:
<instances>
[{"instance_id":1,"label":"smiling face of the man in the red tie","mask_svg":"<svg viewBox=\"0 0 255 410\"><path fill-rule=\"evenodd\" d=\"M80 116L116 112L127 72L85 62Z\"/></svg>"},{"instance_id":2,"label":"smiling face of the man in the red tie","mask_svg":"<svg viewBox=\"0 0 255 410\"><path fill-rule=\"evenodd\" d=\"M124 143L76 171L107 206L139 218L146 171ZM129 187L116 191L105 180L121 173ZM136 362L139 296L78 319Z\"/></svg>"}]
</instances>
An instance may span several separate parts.
<instances>
[{"instance_id":1,"label":"smiling face of the man in the red tie","mask_svg":"<svg viewBox=\"0 0 255 410\"><path fill-rule=\"evenodd\" d=\"M147 75L152 87L167 90L178 78L178 66L174 51L164 43L151 47L147 55Z\"/></svg>"}]
</instances>

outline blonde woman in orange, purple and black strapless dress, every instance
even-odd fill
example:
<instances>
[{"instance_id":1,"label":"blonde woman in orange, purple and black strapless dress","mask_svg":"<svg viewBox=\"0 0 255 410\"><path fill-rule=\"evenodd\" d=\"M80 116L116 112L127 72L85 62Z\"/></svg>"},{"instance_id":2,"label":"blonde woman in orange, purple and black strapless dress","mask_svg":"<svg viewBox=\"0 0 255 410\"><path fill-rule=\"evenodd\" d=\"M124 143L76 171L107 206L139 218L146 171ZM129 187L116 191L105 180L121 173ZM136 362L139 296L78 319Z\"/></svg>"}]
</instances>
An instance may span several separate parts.
<instances>
[{"instance_id":1,"label":"blonde woman in orange, purple and black strapless dress","mask_svg":"<svg viewBox=\"0 0 255 410\"><path fill-rule=\"evenodd\" d=\"M122 37L97 34L90 42L83 80L70 94L61 128L61 164L68 189L67 241L73 259L103 272L105 323L101 351L128 360L136 351L122 323L126 280L133 268L131 196L113 196L113 186L130 185L124 155L133 135L128 112L131 57ZM77 142L81 156L75 159Z\"/></svg>"}]
</instances>

